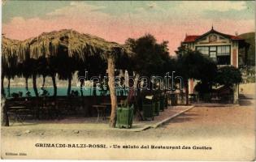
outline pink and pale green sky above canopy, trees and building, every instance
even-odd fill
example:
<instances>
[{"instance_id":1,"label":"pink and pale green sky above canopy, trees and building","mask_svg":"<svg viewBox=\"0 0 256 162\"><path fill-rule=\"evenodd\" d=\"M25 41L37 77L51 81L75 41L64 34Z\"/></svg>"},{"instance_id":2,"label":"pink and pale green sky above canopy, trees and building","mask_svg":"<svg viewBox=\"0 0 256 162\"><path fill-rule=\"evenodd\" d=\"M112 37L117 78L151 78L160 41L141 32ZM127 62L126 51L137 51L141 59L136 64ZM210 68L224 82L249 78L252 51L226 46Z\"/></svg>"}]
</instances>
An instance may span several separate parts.
<instances>
[{"instance_id":1,"label":"pink and pale green sky above canopy, trees and building","mask_svg":"<svg viewBox=\"0 0 256 162\"><path fill-rule=\"evenodd\" d=\"M124 44L152 34L170 53L188 35L254 32L254 1L13 1L2 5L2 33L25 40L64 28Z\"/></svg>"}]
</instances>

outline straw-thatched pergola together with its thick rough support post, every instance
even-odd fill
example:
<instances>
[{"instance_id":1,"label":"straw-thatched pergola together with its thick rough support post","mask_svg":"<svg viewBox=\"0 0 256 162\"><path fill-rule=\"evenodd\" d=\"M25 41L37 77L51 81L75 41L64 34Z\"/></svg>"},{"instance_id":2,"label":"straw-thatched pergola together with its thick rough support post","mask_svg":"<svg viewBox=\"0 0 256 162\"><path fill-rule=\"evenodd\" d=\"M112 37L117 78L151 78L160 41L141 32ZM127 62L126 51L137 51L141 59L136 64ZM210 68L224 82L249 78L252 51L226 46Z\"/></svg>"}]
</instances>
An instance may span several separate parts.
<instances>
[{"instance_id":1,"label":"straw-thatched pergola together with its thick rough support post","mask_svg":"<svg viewBox=\"0 0 256 162\"><path fill-rule=\"evenodd\" d=\"M115 108L117 106L114 83L115 61L123 60L120 59L122 57L129 58L132 55L132 52L126 46L119 45L115 42L108 42L97 36L82 34L67 29L45 32L40 36L17 42L17 45L15 45L15 43L7 43L7 40L2 42L2 46L7 44L7 47L2 49L3 53L7 51L7 54L3 54L2 57L16 53L17 62L21 64L40 59L44 59L46 62L50 62L54 59L55 62L64 62L63 60L66 60L67 62L65 63L68 65L63 68L66 68L64 70L67 70L68 73L68 88L70 88L71 84L72 71L77 70L77 67L73 66L74 62L86 64L89 57L98 57L106 61L109 78L108 84L111 94L111 126L115 126ZM12 45L15 45L15 48L13 48L14 46ZM5 59L6 58L3 58L3 60ZM54 70L54 68L51 70ZM37 73L33 72L32 75L35 90L37 89Z\"/></svg>"}]
</instances>

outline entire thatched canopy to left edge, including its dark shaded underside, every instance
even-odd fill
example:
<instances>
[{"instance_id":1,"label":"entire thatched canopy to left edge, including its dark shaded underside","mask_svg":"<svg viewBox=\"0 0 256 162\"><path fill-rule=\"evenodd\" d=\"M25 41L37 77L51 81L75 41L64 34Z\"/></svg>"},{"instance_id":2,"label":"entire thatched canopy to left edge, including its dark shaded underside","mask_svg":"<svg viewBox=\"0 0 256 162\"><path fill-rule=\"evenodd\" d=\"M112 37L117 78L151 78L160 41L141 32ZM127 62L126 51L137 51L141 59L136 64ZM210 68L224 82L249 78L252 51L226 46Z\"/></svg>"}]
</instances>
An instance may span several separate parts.
<instances>
[{"instance_id":1,"label":"entire thatched canopy to left edge, including its dark shaded underside","mask_svg":"<svg viewBox=\"0 0 256 162\"><path fill-rule=\"evenodd\" d=\"M33 61L44 58L50 58L50 64L54 64L51 68L54 70L61 69L60 67L79 70L83 65L93 64L93 58L98 60L93 66L97 69L106 65L109 55L115 56L117 68L125 69L131 65L128 58L132 56L132 52L128 46L73 30L44 32L27 40L11 40L2 36L2 74L5 76L24 75ZM40 62L37 62L37 69L41 67L38 66Z\"/></svg>"}]
</instances>

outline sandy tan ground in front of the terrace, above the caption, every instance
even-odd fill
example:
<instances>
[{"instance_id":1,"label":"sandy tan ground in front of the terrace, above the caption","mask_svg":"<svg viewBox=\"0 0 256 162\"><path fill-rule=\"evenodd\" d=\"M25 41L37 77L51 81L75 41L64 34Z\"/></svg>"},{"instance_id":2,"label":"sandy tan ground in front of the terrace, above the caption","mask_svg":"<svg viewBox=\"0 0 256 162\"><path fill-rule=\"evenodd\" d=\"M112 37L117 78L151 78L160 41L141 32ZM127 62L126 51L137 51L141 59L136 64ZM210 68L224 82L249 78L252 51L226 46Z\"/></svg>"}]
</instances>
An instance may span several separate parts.
<instances>
[{"instance_id":1,"label":"sandy tan ground in front of the terrace, above the caption","mask_svg":"<svg viewBox=\"0 0 256 162\"><path fill-rule=\"evenodd\" d=\"M85 125L63 123L53 124L46 122L42 125L31 124L30 126L11 126L2 129L2 137L40 137L47 138L53 136L74 136L74 138L86 137L101 139L102 134L105 138L123 139L136 138L145 139L168 139L168 138L190 138L192 136L207 137L215 136L234 136L238 134L254 134L254 108L253 106L244 107L196 107L188 112L175 117L167 124L157 129L149 129L141 132L127 132L106 129L106 123L96 123ZM158 117L163 118L163 117ZM95 119L94 119L95 120ZM87 126L88 129L81 126ZM27 131L27 132L26 132ZM28 133L29 131L29 133ZM78 134L74 133L79 131ZM101 132L101 133L99 133Z\"/></svg>"}]
</instances>

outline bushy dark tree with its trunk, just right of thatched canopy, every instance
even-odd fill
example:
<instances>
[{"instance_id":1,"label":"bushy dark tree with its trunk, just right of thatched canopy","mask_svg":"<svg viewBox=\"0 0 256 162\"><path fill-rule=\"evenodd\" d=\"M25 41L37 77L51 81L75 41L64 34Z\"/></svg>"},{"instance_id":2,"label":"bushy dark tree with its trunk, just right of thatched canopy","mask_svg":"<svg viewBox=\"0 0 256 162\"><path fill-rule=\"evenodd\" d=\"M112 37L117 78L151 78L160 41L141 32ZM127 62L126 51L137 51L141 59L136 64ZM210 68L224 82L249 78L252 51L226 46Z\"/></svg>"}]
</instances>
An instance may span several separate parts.
<instances>
[{"instance_id":1,"label":"bushy dark tree with its trunk, just right of thatched canopy","mask_svg":"<svg viewBox=\"0 0 256 162\"><path fill-rule=\"evenodd\" d=\"M171 59L168 48L167 41L163 41L162 43L158 43L154 36L150 34L146 34L145 36L141 36L138 39L129 38L126 40L125 45L128 45L134 55L132 58L128 59L128 62L125 62L125 67L128 68L128 75L132 76L133 79L136 76L146 77L147 80L147 88L141 92L141 79L137 82L132 83L129 79L129 86L134 86L137 89L137 95L135 102L136 112L139 113L139 109L141 109L142 98L146 93L153 94L153 84L150 79L152 76L164 76L169 70L171 70L171 65L173 63L173 59ZM122 62L124 64L124 62ZM133 75L132 71L135 72ZM143 82L145 83L145 82ZM128 92L128 96L132 96L132 91ZM140 113L139 113L140 114Z\"/></svg>"}]
</instances>

